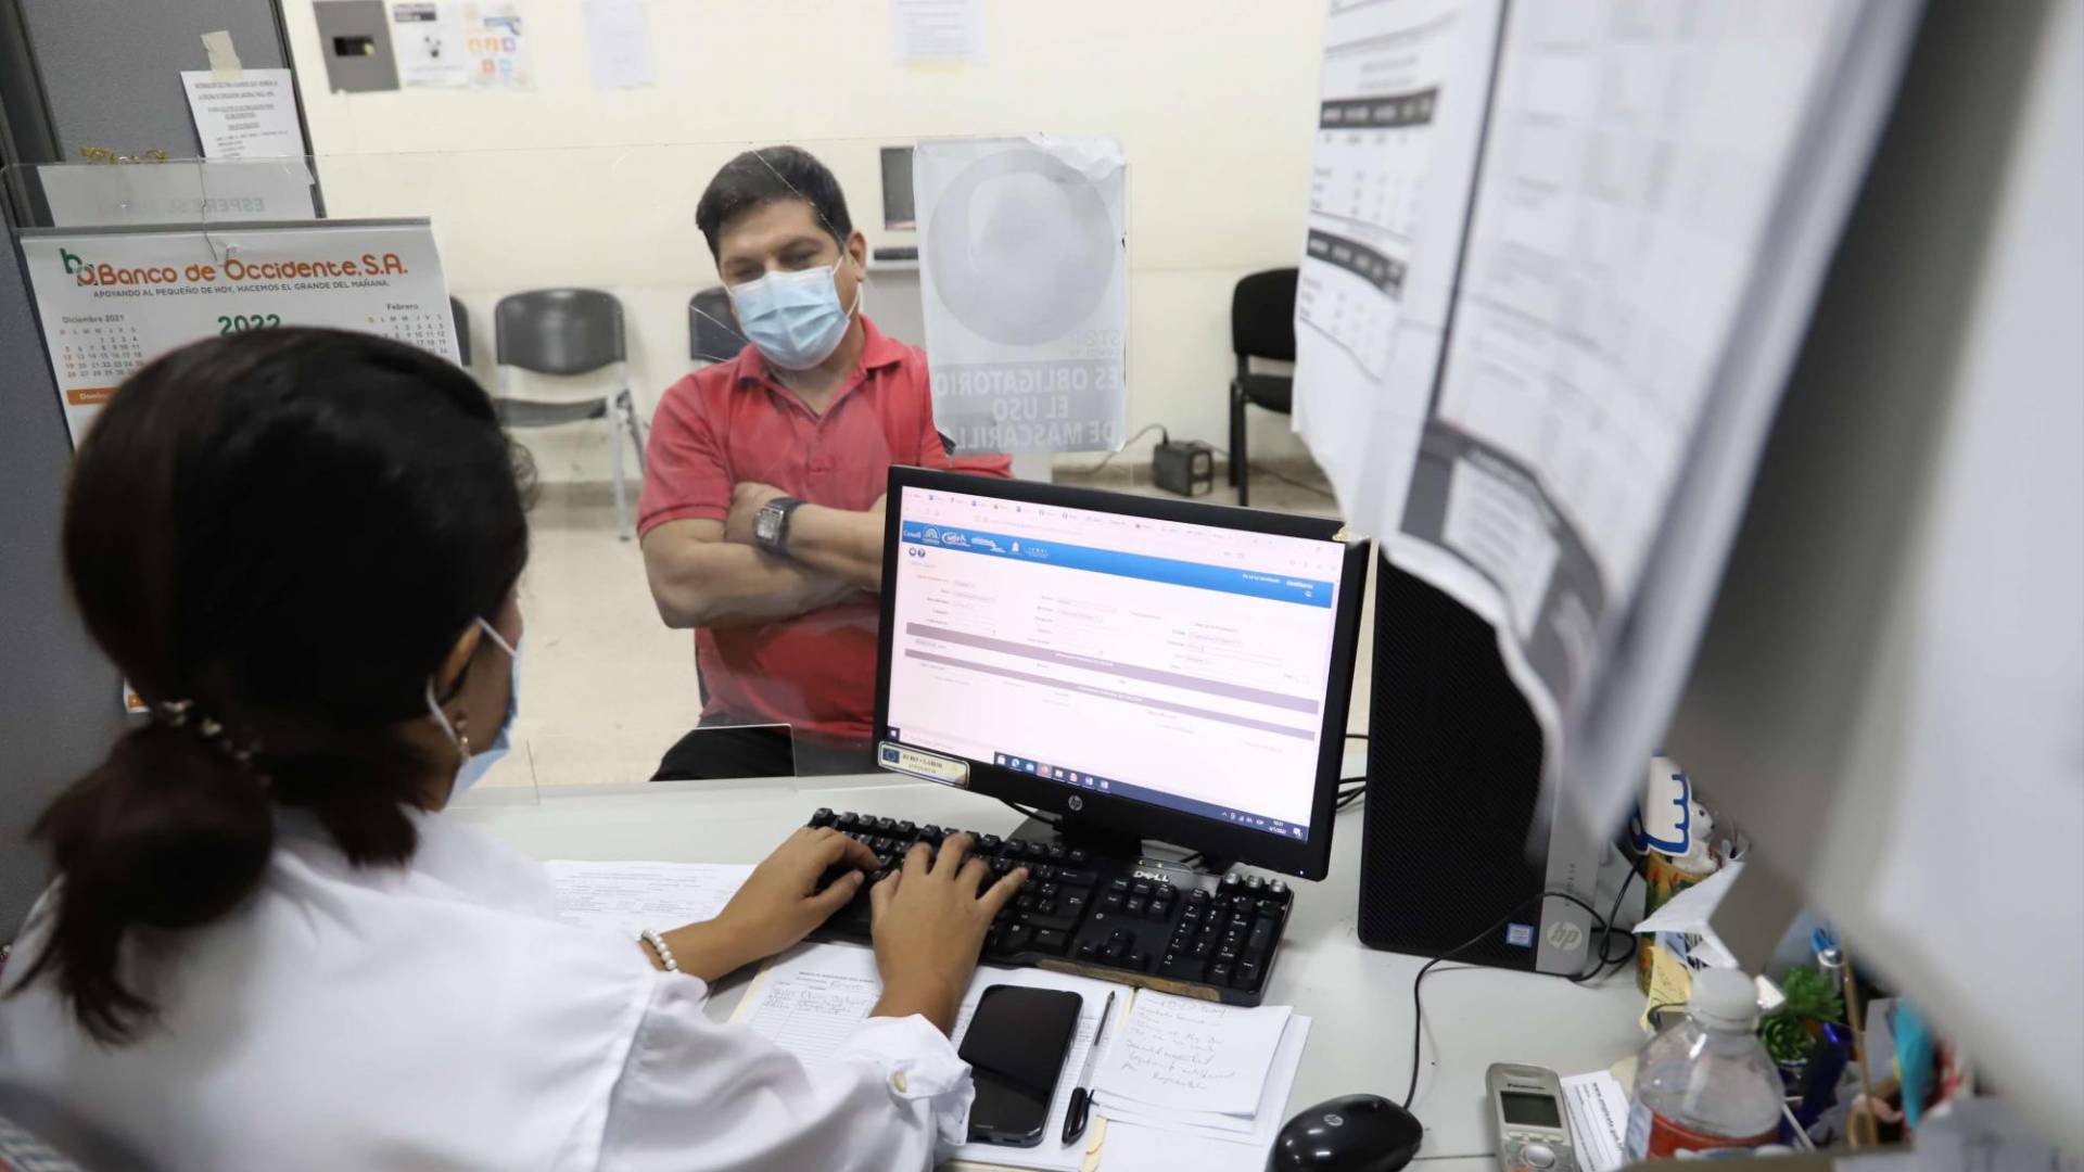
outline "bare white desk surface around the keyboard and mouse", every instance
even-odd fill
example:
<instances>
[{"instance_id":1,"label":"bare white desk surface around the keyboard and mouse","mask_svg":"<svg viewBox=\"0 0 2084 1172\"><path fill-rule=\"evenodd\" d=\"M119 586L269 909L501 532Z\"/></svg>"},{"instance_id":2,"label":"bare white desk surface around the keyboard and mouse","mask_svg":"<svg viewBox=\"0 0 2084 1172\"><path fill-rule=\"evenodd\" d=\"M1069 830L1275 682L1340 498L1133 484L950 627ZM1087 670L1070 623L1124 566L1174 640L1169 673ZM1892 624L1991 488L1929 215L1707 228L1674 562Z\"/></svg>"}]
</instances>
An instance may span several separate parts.
<instances>
[{"instance_id":1,"label":"bare white desk surface around the keyboard and mouse","mask_svg":"<svg viewBox=\"0 0 2084 1172\"><path fill-rule=\"evenodd\" d=\"M473 790L450 811L538 859L663 859L754 863L817 807L1007 834L1013 809L892 774L656 782L556 790ZM1423 957L1363 949L1353 934L1359 815L1332 840L1332 878L1296 882L1288 936L1267 1003L1315 1020L1288 1112L1371 1091L1403 1099L1411 1066L1411 978ZM1411 1109L1425 1124L1419 1168L1494 1170L1484 1120L1484 1070L1532 1061L1559 1074L1603 1070L1642 1045L1634 968L1596 986L1555 976L1440 966L1425 978L1425 1055ZM723 982L711 1016L727 1018L744 976Z\"/></svg>"}]
</instances>

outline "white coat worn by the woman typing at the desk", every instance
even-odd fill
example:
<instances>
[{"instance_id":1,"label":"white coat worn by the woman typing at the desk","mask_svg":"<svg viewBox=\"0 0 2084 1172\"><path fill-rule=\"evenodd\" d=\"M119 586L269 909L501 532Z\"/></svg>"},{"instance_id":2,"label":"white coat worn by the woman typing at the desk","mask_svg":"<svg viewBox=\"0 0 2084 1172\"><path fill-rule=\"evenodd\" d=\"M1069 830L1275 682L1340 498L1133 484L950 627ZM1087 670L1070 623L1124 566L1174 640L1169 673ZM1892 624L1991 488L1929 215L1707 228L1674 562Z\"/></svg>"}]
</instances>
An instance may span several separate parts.
<instances>
[{"instance_id":1,"label":"white coat worn by the woman typing at the desk","mask_svg":"<svg viewBox=\"0 0 2084 1172\"><path fill-rule=\"evenodd\" d=\"M636 941L556 922L531 859L415 822L408 865L352 868L283 815L238 911L131 945L163 953L138 970L158 1028L96 1047L38 980L0 999L0 1078L171 1170L884 1172L963 1141L969 1066L923 1018L802 1061ZM40 941L31 915L8 988Z\"/></svg>"}]
</instances>

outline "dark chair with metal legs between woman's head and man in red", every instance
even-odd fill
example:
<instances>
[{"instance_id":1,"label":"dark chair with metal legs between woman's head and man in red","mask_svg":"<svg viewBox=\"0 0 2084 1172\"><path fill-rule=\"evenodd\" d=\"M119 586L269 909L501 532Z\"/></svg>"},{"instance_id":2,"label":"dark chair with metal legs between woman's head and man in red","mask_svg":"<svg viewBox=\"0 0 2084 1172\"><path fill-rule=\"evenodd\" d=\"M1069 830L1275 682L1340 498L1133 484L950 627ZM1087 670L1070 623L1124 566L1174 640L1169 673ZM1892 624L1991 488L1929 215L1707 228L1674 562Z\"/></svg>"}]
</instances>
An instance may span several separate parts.
<instances>
[{"instance_id":1,"label":"dark chair with metal legs between woman's head and man in red","mask_svg":"<svg viewBox=\"0 0 2084 1172\"><path fill-rule=\"evenodd\" d=\"M629 394L623 302L600 290L531 290L502 296L492 309L492 344L498 363L498 392L492 405L500 411L500 423L506 428L554 428L584 419L609 423L609 450L615 455L615 530L623 540L636 536L623 486L623 438L638 450L638 478L642 478L644 423ZM513 398L506 388L517 367L546 375L584 375L615 367L617 390L565 402Z\"/></svg>"}]
</instances>

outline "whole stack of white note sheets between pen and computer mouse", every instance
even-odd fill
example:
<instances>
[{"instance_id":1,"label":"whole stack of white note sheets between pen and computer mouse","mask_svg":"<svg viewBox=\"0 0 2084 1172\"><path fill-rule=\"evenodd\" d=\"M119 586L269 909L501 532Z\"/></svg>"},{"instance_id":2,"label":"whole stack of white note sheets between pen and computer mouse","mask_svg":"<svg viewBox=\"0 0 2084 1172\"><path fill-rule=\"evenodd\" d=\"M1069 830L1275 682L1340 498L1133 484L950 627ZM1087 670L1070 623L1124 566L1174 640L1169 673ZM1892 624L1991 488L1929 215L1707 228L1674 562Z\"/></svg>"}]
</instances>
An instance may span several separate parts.
<instances>
[{"instance_id":1,"label":"whole stack of white note sheets between pen and computer mouse","mask_svg":"<svg viewBox=\"0 0 2084 1172\"><path fill-rule=\"evenodd\" d=\"M1309 1018L1286 1005L1140 991L1094 1080L1100 1168L1263 1168L1307 1041Z\"/></svg>"}]
</instances>

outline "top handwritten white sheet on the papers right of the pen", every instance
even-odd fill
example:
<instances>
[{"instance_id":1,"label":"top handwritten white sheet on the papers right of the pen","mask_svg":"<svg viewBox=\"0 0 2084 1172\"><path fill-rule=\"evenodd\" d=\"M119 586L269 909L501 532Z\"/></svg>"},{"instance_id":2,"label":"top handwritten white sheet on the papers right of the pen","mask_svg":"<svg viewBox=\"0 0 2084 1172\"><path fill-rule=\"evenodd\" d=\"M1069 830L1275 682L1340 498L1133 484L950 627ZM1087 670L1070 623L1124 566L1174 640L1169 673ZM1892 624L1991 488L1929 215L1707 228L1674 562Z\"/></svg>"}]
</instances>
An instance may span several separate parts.
<instances>
[{"instance_id":1,"label":"top handwritten white sheet on the papers right of the pen","mask_svg":"<svg viewBox=\"0 0 2084 1172\"><path fill-rule=\"evenodd\" d=\"M1107 1051L1100 1101L1250 1116L1288 1018L1286 1005L1244 1009L1140 991Z\"/></svg>"}]
</instances>

